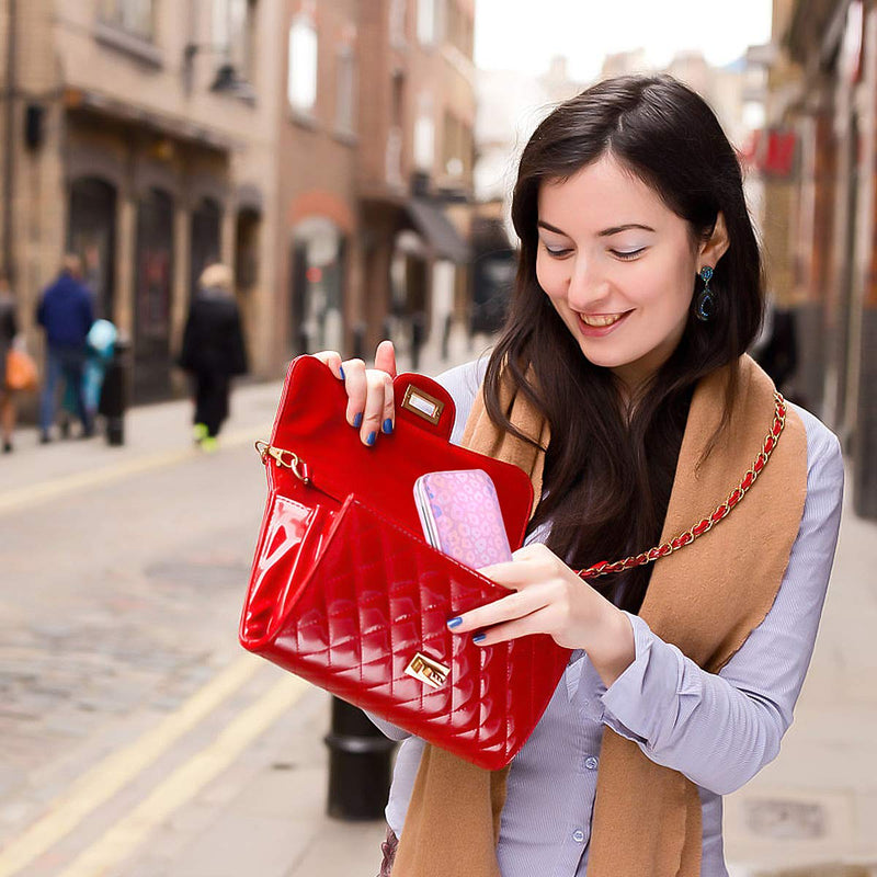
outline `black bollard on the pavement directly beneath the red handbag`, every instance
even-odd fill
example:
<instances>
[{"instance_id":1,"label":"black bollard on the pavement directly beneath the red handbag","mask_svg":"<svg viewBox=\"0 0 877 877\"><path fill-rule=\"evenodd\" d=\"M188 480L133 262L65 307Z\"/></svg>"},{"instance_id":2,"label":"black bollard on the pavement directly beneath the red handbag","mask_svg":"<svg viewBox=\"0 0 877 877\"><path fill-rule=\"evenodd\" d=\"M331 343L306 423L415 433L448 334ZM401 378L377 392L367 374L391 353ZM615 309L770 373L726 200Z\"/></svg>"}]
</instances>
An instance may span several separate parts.
<instances>
[{"instance_id":1,"label":"black bollard on the pavement directly beneath the red handbag","mask_svg":"<svg viewBox=\"0 0 877 877\"><path fill-rule=\"evenodd\" d=\"M383 819L390 790L388 740L355 706L332 698L329 747L328 812L346 821Z\"/></svg>"}]
</instances>

